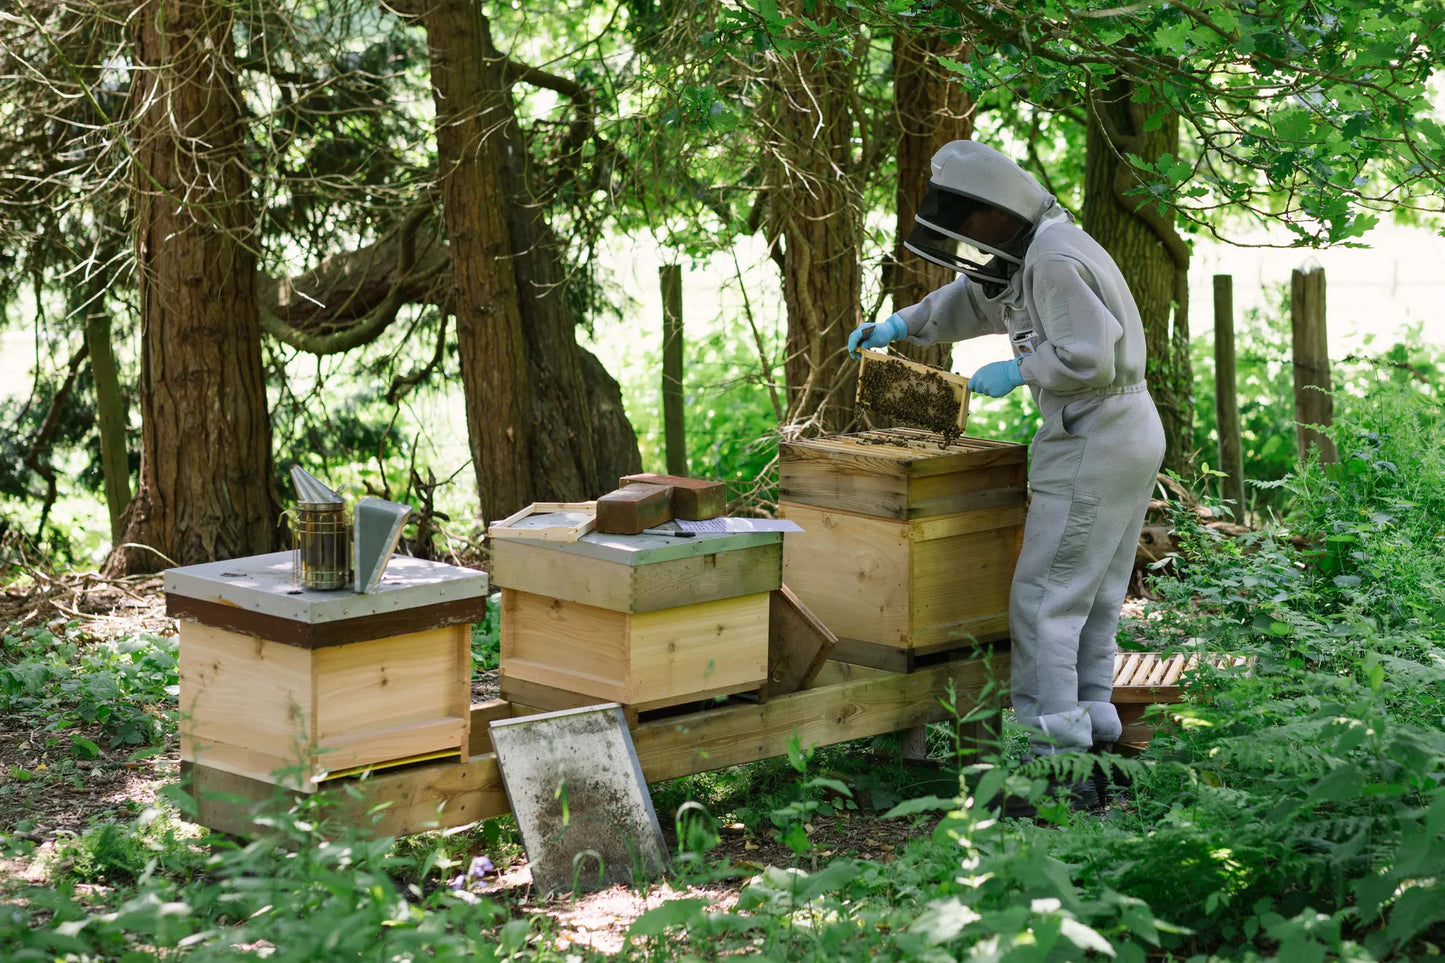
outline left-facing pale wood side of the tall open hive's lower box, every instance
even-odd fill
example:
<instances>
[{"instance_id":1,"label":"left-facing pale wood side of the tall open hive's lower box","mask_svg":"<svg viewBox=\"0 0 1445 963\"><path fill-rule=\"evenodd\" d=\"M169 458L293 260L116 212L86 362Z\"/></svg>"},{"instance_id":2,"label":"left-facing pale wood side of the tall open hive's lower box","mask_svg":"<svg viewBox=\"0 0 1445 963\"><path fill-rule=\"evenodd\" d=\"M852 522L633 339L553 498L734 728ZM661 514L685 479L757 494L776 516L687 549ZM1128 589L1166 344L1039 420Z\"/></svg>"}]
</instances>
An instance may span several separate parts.
<instances>
[{"instance_id":1,"label":"left-facing pale wood side of the tall open hive's lower box","mask_svg":"<svg viewBox=\"0 0 1445 963\"><path fill-rule=\"evenodd\" d=\"M783 581L840 639L909 645L909 523L779 502Z\"/></svg>"}]
</instances>

